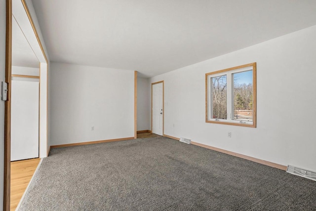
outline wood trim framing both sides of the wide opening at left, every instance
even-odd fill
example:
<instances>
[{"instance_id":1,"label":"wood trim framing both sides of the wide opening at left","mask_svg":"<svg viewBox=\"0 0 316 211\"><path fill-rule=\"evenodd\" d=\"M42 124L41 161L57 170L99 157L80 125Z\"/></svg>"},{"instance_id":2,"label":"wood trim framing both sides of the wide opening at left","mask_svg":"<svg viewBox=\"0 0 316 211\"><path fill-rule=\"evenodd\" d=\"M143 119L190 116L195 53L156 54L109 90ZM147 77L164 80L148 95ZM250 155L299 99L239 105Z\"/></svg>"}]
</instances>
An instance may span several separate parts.
<instances>
[{"instance_id":1,"label":"wood trim framing both sides of the wide opening at left","mask_svg":"<svg viewBox=\"0 0 316 211\"><path fill-rule=\"evenodd\" d=\"M27 13L28 19L33 28L34 34L40 45L41 52L46 63L46 148L48 141L48 60L40 42L31 13L27 7L26 1L21 0ZM5 36L5 82L7 86L7 101L4 109L4 178L3 178L3 211L10 211L10 172L11 172L11 67L12 67L12 0L6 0L6 36ZM41 71L40 71L41 72ZM40 114L39 114L40 115ZM40 131L40 127L39 127ZM47 149L46 149L46 152Z\"/></svg>"}]
</instances>

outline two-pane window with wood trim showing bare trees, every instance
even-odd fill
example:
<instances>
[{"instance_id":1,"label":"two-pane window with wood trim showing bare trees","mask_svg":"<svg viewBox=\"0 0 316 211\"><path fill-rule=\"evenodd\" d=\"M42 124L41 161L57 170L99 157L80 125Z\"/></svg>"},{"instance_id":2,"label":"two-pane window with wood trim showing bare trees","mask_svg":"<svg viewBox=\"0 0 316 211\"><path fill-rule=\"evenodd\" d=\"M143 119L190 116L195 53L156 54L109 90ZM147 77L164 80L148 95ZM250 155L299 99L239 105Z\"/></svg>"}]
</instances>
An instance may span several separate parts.
<instances>
[{"instance_id":1,"label":"two-pane window with wood trim showing bare trees","mask_svg":"<svg viewBox=\"0 0 316 211\"><path fill-rule=\"evenodd\" d=\"M256 127L256 63L205 74L206 122Z\"/></svg>"}]
</instances>

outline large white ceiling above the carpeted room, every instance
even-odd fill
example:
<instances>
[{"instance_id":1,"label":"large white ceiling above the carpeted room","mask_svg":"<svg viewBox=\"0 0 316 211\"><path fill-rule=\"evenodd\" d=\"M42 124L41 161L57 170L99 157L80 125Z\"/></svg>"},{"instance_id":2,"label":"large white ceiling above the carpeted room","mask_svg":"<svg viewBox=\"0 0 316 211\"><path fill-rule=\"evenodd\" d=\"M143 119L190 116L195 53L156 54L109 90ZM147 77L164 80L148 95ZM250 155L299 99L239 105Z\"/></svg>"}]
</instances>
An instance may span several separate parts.
<instances>
[{"instance_id":1,"label":"large white ceiling above the carpeted room","mask_svg":"<svg viewBox=\"0 0 316 211\"><path fill-rule=\"evenodd\" d=\"M152 77L316 25L316 0L32 0L53 62Z\"/></svg>"}]
</instances>

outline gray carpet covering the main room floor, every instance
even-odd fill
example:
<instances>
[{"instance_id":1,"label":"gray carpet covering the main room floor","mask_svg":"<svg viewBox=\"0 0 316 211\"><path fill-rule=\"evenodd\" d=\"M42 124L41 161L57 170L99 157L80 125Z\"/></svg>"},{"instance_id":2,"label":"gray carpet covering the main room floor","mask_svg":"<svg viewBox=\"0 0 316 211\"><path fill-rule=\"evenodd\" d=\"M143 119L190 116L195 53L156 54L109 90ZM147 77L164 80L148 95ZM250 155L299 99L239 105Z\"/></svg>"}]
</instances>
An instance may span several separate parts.
<instances>
[{"instance_id":1,"label":"gray carpet covering the main room floor","mask_svg":"<svg viewBox=\"0 0 316 211\"><path fill-rule=\"evenodd\" d=\"M165 137L51 149L21 211L316 210L316 182Z\"/></svg>"}]
</instances>

